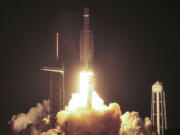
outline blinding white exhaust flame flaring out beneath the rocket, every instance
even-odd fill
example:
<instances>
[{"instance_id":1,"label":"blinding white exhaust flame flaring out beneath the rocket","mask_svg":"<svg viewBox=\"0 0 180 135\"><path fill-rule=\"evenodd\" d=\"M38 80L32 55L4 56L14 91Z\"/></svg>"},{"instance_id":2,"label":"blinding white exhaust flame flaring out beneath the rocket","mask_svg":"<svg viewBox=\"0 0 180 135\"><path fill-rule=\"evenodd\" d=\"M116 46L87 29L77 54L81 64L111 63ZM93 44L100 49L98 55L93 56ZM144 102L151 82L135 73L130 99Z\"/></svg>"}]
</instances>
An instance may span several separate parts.
<instances>
[{"instance_id":1,"label":"blinding white exhaust flame flaring out beneath the rocket","mask_svg":"<svg viewBox=\"0 0 180 135\"><path fill-rule=\"evenodd\" d=\"M104 101L99 97L96 91L93 88L93 73L90 71L82 71L80 72L80 84L79 84L79 92L72 94L72 99L69 101L66 110L69 111L77 111L88 109L87 107L87 99L89 90L92 90L92 108L96 110L104 109Z\"/></svg>"}]
</instances>

